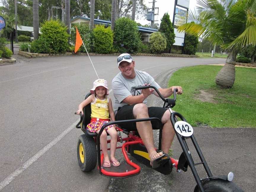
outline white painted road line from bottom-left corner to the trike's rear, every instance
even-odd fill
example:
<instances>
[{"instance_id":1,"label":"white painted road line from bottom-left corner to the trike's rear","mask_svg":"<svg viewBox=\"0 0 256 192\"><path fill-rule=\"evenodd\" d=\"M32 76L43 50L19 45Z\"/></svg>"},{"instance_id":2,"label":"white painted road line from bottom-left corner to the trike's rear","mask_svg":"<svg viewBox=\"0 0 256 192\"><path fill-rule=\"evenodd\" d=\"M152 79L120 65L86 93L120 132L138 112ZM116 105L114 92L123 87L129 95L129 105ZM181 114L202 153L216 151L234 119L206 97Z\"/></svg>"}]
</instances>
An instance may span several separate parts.
<instances>
[{"instance_id":1,"label":"white painted road line from bottom-left corner to the trike's rear","mask_svg":"<svg viewBox=\"0 0 256 192\"><path fill-rule=\"evenodd\" d=\"M67 135L79 122L80 118L75 121L68 129L63 131L59 136L57 136L54 140L44 146L40 151L38 151L33 157L28 159L21 167L17 168L14 172L12 172L8 177L6 177L0 183L0 191L7 186L15 177L19 176L23 171L25 171L29 166L31 166L37 159L39 159L44 153L46 153L52 146L57 144L65 135Z\"/></svg>"}]
</instances>

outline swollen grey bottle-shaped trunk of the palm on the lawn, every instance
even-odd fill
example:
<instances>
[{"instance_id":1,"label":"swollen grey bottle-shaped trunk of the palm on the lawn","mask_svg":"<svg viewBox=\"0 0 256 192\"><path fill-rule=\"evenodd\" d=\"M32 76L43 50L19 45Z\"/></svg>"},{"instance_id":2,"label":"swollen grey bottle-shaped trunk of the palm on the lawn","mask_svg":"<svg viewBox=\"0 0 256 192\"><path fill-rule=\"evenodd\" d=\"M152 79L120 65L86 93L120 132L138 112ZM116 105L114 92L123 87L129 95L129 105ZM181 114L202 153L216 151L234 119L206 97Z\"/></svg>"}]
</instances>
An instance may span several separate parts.
<instances>
[{"instance_id":1,"label":"swollen grey bottle-shaped trunk of the palm on the lawn","mask_svg":"<svg viewBox=\"0 0 256 192\"><path fill-rule=\"evenodd\" d=\"M226 63L215 78L215 83L222 88L231 88L235 82L235 65L237 51L231 50Z\"/></svg>"}]
</instances>

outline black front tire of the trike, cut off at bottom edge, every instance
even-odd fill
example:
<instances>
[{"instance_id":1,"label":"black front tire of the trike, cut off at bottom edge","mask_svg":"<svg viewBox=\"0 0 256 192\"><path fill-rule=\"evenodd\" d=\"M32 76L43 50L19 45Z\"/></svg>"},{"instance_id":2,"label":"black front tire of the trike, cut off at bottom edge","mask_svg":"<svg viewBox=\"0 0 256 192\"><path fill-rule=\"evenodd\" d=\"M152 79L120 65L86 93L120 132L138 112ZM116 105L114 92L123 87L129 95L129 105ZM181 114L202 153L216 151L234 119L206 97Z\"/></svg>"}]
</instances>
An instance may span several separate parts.
<instances>
[{"instance_id":1,"label":"black front tire of the trike, cut off at bottom edge","mask_svg":"<svg viewBox=\"0 0 256 192\"><path fill-rule=\"evenodd\" d=\"M209 180L204 183L203 188L205 192L244 192L235 183L222 179ZM196 186L194 192L200 192L200 189Z\"/></svg>"}]
</instances>

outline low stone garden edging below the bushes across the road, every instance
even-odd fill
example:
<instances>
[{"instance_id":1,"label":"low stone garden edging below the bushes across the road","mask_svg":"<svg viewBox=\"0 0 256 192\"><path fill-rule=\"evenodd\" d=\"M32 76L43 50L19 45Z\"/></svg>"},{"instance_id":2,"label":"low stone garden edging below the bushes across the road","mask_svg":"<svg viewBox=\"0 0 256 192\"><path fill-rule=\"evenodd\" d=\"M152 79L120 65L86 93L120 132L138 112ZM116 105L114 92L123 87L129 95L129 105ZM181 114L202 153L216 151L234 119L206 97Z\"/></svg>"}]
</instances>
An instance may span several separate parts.
<instances>
[{"instance_id":1,"label":"low stone garden edging below the bushes across the road","mask_svg":"<svg viewBox=\"0 0 256 192\"><path fill-rule=\"evenodd\" d=\"M29 53L25 51L19 51L18 55L28 57L28 58L36 58L36 57L48 57L48 56L63 56L63 55L87 55L87 53L60 53L60 54L48 54L48 53ZM111 53L111 54L99 54L99 53L89 53L89 55L120 55L120 53ZM135 53L130 55L137 56L153 56L153 57L199 57L198 55L180 55L180 54L172 54L172 53L161 53L161 54L150 54L150 53Z\"/></svg>"}]
</instances>

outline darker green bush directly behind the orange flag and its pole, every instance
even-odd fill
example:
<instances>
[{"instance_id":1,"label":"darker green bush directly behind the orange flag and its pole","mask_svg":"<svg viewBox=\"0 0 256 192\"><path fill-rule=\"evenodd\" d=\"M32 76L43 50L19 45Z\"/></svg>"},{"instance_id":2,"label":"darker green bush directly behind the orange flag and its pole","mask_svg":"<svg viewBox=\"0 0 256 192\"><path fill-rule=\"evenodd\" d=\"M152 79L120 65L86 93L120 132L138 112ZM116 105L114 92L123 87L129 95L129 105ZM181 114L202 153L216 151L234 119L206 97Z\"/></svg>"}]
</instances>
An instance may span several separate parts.
<instances>
[{"instance_id":1,"label":"darker green bush directly behind the orange flag and its pole","mask_svg":"<svg viewBox=\"0 0 256 192\"><path fill-rule=\"evenodd\" d=\"M79 31L79 34L84 42L84 46L86 47L87 51L90 52L92 50L92 31L90 31L88 24L79 24L76 26L73 26L71 28L71 41L76 43L76 27ZM82 45L79 49L81 52L86 52L84 46Z\"/></svg>"}]
</instances>

